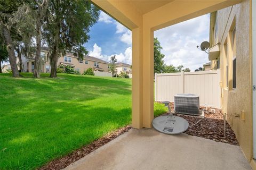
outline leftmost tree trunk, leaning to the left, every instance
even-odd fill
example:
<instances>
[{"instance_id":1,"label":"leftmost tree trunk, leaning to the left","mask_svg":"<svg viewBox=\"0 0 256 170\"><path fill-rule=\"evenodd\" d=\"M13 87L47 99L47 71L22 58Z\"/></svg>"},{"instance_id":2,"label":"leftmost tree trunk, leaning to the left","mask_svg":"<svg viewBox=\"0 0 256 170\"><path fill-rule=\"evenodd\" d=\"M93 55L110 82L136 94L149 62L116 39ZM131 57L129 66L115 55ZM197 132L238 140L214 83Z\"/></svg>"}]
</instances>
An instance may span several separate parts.
<instances>
[{"instance_id":1,"label":"leftmost tree trunk, leaning to the left","mask_svg":"<svg viewBox=\"0 0 256 170\"><path fill-rule=\"evenodd\" d=\"M3 29L4 40L7 45L8 52L9 52L9 62L10 62L11 69L12 69L12 76L19 77L20 73L19 73L18 66L17 66L16 60L15 60L15 52L14 52L14 46L13 46L11 33L7 29L6 25L4 25L4 24L2 24L2 29Z\"/></svg>"}]
</instances>

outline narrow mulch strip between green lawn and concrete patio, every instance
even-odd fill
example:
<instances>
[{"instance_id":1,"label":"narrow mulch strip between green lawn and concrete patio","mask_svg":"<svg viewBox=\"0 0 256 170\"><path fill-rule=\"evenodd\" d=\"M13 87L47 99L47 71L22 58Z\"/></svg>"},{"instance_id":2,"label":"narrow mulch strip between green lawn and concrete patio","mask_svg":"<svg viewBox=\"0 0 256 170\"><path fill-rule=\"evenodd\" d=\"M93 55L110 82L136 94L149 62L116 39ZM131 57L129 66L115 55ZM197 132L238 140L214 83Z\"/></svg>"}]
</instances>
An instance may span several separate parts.
<instances>
[{"instance_id":1,"label":"narrow mulch strip between green lawn and concrete patio","mask_svg":"<svg viewBox=\"0 0 256 170\"><path fill-rule=\"evenodd\" d=\"M110 142L111 140L115 139L119 135L127 132L129 129L131 129L131 126L125 126L124 128L118 129L117 131L110 133L106 135L105 137L102 137L93 143L91 145L87 145L81 149L78 149L74 152L71 152L65 157L61 157L58 159L53 160L52 162L48 163L47 165L39 168L39 169L63 169L67 167L68 165L76 162L78 159L83 158L85 155L90 154L92 151L98 149L99 147L105 145L106 143Z\"/></svg>"}]
</instances>

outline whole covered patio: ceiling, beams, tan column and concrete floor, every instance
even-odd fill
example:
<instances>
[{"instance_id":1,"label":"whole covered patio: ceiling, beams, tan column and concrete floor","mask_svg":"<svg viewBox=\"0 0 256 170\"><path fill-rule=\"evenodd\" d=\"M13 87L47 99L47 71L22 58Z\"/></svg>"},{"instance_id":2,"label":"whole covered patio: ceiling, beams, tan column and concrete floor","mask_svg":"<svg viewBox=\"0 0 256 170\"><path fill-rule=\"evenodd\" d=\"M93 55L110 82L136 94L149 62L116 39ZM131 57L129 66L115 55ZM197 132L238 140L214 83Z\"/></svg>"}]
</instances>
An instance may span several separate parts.
<instances>
[{"instance_id":1,"label":"whole covered patio: ceiling, beams, tan column and concrete floor","mask_svg":"<svg viewBox=\"0 0 256 170\"><path fill-rule=\"evenodd\" d=\"M92 2L132 31L133 129L66 169L251 169L238 146L150 129L154 118L154 31L241 1Z\"/></svg>"}]
</instances>

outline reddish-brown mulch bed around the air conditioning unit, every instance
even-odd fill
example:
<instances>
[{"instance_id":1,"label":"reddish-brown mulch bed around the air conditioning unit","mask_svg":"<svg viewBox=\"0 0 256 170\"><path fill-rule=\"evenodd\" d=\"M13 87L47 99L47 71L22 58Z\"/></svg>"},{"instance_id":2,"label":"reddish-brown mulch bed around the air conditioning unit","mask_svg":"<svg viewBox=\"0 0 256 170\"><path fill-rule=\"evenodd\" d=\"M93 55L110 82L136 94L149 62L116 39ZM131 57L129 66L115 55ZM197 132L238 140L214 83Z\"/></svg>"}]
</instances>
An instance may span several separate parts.
<instances>
[{"instance_id":1,"label":"reddish-brown mulch bed around the air conditioning unit","mask_svg":"<svg viewBox=\"0 0 256 170\"><path fill-rule=\"evenodd\" d=\"M174 104L170 103L170 106L172 111L174 111ZM183 114L174 114L174 115L183 117L188 121L190 127L185 133L196 136L196 137L202 137L202 138L211 139L217 142L223 142L223 143L228 143L230 145L238 146L236 135L234 131L230 128L227 121L226 121L226 137L224 136L224 121L223 121L223 114L221 109L212 108L212 107L207 107L207 110L205 107L200 107L200 109L205 110L204 118L198 117L198 116L195 117L195 116L189 116L189 115L183 115ZM201 121L198 122L199 120ZM191 126L193 124L195 125Z\"/></svg>"}]
</instances>

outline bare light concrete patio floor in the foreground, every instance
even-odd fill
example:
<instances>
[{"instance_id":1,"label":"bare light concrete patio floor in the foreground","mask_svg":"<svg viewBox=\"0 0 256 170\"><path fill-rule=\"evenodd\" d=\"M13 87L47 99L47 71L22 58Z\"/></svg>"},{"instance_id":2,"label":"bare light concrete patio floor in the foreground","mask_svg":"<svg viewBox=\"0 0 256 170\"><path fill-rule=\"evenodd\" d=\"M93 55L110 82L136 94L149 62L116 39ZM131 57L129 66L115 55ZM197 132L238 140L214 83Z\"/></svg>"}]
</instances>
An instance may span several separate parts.
<instances>
[{"instance_id":1,"label":"bare light concrete patio floor in the foreground","mask_svg":"<svg viewBox=\"0 0 256 170\"><path fill-rule=\"evenodd\" d=\"M65 169L251 169L238 146L131 129Z\"/></svg>"}]
</instances>

